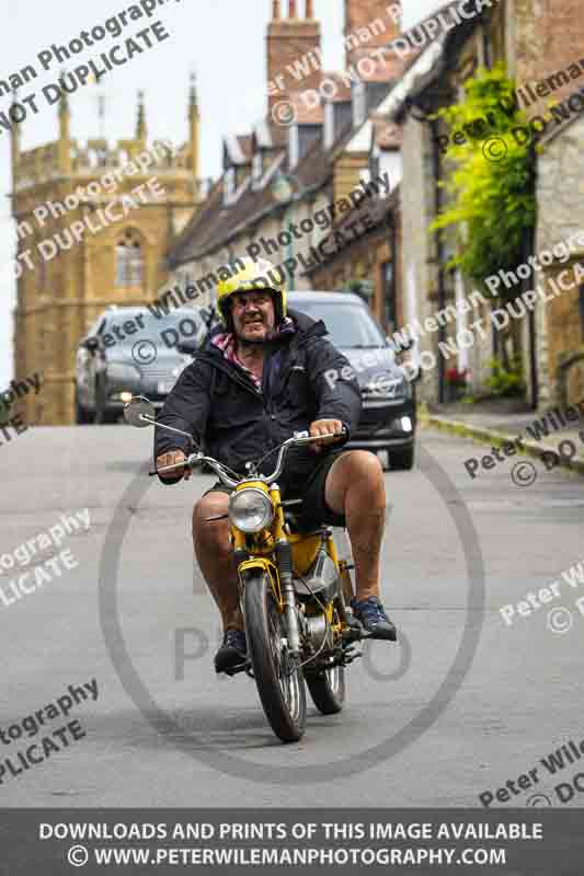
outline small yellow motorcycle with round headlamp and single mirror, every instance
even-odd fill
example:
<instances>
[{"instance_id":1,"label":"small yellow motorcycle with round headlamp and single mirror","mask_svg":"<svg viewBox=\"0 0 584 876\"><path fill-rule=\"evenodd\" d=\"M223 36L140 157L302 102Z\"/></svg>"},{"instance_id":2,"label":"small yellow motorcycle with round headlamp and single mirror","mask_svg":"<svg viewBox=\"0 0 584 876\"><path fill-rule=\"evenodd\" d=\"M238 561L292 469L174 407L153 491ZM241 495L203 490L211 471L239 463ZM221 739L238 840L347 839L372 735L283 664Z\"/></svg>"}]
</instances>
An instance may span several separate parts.
<instances>
[{"instance_id":1,"label":"small yellow motorcycle with round headlamp and single mirror","mask_svg":"<svg viewBox=\"0 0 584 876\"><path fill-rule=\"evenodd\" d=\"M137 427L157 426L156 410L141 396L124 411ZM300 531L295 509L302 499L284 500L278 479L286 454L309 442L331 443L335 436L312 438L295 433L278 450L271 475L261 475L248 462L241 477L201 451L186 462L160 471L206 464L233 492L228 517L238 563L239 595L245 623L248 658L229 675L247 672L257 692L272 729L284 742L298 741L306 726L306 688L324 715L340 712L345 700L345 666L360 652L354 643L368 637L348 608L353 596L353 564L337 556L332 530ZM151 472L150 474L158 474ZM215 518L219 519L219 518Z\"/></svg>"}]
</instances>

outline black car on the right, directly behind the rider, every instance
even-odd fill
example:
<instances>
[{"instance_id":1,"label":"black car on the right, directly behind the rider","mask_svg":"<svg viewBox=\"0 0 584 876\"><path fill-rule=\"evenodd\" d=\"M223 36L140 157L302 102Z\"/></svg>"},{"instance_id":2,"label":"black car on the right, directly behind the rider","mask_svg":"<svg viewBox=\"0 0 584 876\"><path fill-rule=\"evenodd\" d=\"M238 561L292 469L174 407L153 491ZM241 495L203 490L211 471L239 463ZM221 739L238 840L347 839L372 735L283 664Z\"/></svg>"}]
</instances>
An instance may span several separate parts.
<instances>
[{"instance_id":1,"label":"black car on the right, directly behind the rider","mask_svg":"<svg viewBox=\"0 0 584 876\"><path fill-rule=\"evenodd\" d=\"M387 338L362 298L353 292L290 292L288 304L322 320L331 342L359 381L363 413L347 447L387 450L391 469L414 462L416 404L413 384L396 362Z\"/></svg>"}]
</instances>

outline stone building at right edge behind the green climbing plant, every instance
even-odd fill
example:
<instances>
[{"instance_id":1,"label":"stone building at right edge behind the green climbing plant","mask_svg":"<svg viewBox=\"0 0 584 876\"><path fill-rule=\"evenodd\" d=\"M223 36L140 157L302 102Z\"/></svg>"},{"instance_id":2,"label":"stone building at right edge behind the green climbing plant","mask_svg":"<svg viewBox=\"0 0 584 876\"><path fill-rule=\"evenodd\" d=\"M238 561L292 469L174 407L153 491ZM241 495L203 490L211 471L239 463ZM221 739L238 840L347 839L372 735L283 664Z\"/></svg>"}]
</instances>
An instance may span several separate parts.
<instances>
[{"instance_id":1,"label":"stone building at right edge behind the green climbing plant","mask_svg":"<svg viewBox=\"0 0 584 876\"><path fill-rule=\"evenodd\" d=\"M447 20L454 4L434 13L434 20ZM470 7L470 9L469 9ZM446 204L444 183L453 172L443 154L438 137L448 131L444 122L434 118L442 107L463 99L465 82L477 68L492 68L503 61L520 89L520 105L529 118L545 125L535 150L537 221L531 241L526 241L524 261L541 251L552 250L562 240L573 238L584 228L584 204L580 169L583 158L584 82L582 55L584 20L575 0L534 4L519 0L474 0L467 4L471 18L455 27L438 28L434 43L426 42L420 57L405 72L399 87L388 95L378 112L389 122L403 126L403 183L408 198L402 198L401 263L404 284L404 322L425 324L436 312L459 304L456 319L438 325L438 331L419 336L415 356L426 357L421 394L430 402L446 401L445 371L451 365L469 368L472 390L484 389L490 376L490 359L500 351L501 333L491 324L492 306L486 289L470 283L448 268L455 247L460 245L451 231L430 233L428 227ZM576 69L577 68L577 69ZM570 74L568 74L570 70ZM537 94L536 94L537 91ZM575 93L574 93L575 92ZM580 96L579 96L580 95ZM563 110L551 110L559 102ZM570 106L565 104L570 102ZM527 105L524 105L527 104ZM558 119L569 116L559 124ZM463 244L462 244L463 245ZM517 292L561 280L569 268L574 276L582 261L580 244L573 246L570 261L548 263L541 274L524 278ZM512 323L524 364L526 400L534 406L549 406L562 397L582 397L584 342L584 285L575 283L550 301L537 301L534 312ZM460 304L469 296L480 297L466 313ZM440 355L439 344L450 344L471 323L483 321L485 336L476 333L474 343L460 345L458 355ZM435 322L435 320L434 320ZM460 335L463 337L465 335ZM432 367L433 358L436 366ZM569 366L569 367L568 367ZM563 378L566 376L566 380Z\"/></svg>"}]
</instances>

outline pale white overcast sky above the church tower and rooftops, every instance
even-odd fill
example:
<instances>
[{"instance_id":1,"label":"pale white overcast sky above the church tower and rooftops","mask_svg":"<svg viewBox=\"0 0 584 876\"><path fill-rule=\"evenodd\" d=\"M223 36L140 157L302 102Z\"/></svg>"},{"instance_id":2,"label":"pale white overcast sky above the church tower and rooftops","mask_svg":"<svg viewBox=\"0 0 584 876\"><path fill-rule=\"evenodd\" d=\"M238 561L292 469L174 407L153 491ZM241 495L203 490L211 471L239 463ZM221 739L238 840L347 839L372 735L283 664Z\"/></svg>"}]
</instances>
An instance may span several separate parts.
<instances>
[{"instance_id":1,"label":"pale white overcast sky above the church tower and rooftops","mask_svg":"<svg viewBox=\"0 0 584 876\"><path fill-rule=\"evenodd\" d=\"M139 0L19 0L8 3L0 28L0 80L28 64L39 69L38 53L51 44L68 44L81 31L103 25L112 15ZM403 0L403 25L410 27L444 5L443 0ZM389 5L389 0L388 0ZM325 69L343 66L344 0L314 0L314 13L323 32ZM85 85L71 95L71 136L81 142L102 136L98 99L105 99L103 134L114 142L133 137L136 124L137 92L145 92L150 139L182 143L187 136L188 78L196 72L201 112L201 174L218 176L221 171L221 139L227 134L244 134L265 113L265 33L272 14L271 0L168 0L149 20L133 22L121 37L100 43L110 48L148 23L160 20L170 34L142 55L131 58L103 77L101 88ZM82 64L95 48L75 56ZM55 82L59 67L43 72L30 91ZM27 92L22 91L22 95ZM0 113L10 105L0 96ZM39 112L21 125L22 148L32 149L57 138L56 108L44 101ZM13 325L15 281L14 223L10 218L10 139L0 128L0 391L13 377Z\"/></svg>"}]
</instances>

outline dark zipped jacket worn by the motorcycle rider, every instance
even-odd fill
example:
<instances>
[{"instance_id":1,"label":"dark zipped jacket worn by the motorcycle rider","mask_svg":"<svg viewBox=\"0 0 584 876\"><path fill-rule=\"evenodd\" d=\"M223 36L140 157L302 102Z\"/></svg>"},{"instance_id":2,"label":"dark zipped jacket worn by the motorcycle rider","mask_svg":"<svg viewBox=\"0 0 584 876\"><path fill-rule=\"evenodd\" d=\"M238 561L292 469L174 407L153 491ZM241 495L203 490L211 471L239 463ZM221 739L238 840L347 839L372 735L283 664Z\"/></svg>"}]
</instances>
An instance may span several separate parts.
<instances>
[{"instance_id":1,"label":"dark zipped jacket worn by the motorcycle rider","mask_svg":"<svg viewBox=\"0 0 584 876\"><path fill-rule=\"evenodd\" d=\"M217 326L176 381L159 422L190 433L197 446L240 474L245 473L245 462L259 460L314 419L340 419L351 435L359 420L362 396L355 377L341 378L347 359L324 337L322 320L316 322L295 310L288 315L296 332L268 344L261 390L211 344L225 331ZM339 379L327 380L327 371L335 371ZM186 438L156 429L154 459L175 449L192 452ZM274 470L276 457L272 453L264 460L263 474ZM283 485L301 483L320 459L322 454L309 447L294 448Z\"/></svg>"}]
</instances>

